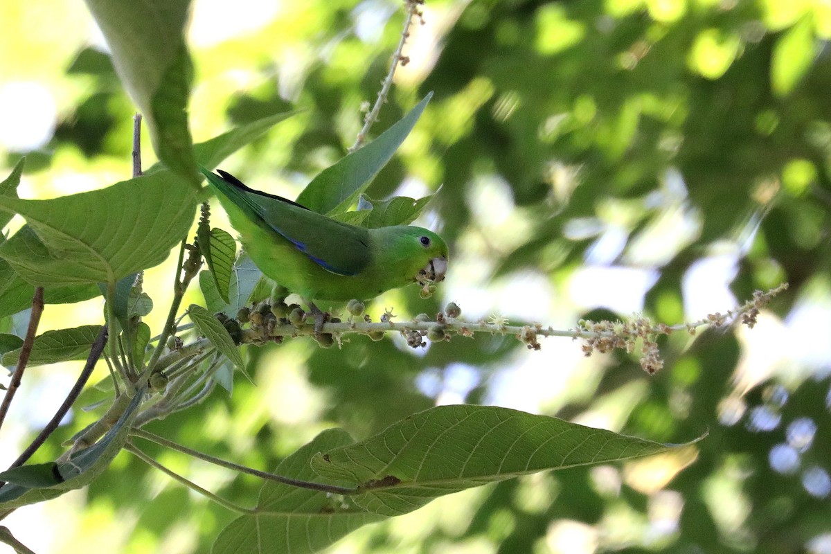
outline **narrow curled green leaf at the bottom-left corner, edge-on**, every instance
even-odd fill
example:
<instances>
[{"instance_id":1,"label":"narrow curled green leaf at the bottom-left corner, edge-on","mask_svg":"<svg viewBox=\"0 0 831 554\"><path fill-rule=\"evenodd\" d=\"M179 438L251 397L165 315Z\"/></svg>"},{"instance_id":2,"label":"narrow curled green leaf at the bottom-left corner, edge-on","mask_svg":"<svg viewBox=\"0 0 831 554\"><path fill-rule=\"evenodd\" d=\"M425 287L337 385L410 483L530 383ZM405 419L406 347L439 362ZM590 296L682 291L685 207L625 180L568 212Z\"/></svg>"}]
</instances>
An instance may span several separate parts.
<instances>
[{"instance_id":1,"label":"narrow curled green leaf at the bottom-left corner, edge-on","mask_svg":"<svg viewBox=\"0 0 831 554\"><path fill-rule=\"evenodd\" d=\"M11 478L18 480L24 478L21 473L27 472L29 483L32 484L7 483L0 488L0 510L43 502L60 496L66 491L86 487L109 467L113 458L116 458L116 454L124 446L130 433L130 425L144 395L144 390L138 390L132 399L122 396L121 401L130 400L130 403L126 405L124 413L121 414L116 424L96 444L73 453L66 462L44 463L34 468L23 466L23 468L32 468L28 470L22 468L10 470ZM2 475L6 473L0 473L0 479L3 479ZM52 475L51 481L48 480L49 474ZM38 479L43 484L34 484Z\"/></svg>"}]
</instances>

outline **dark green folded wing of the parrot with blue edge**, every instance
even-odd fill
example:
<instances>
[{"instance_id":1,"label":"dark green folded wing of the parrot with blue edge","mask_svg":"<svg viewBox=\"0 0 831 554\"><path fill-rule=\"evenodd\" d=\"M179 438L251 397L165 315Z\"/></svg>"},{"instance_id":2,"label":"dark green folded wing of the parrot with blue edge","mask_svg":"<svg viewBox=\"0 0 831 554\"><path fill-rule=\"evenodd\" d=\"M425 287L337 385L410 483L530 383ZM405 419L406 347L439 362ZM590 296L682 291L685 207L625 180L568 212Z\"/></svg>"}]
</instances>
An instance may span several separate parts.
<instances>
[{"instance_id":1,"label":"dark green folded wing of the parrot with blue edge","mask_svg":"<svg viewBox=\"0 0 831 554\"><path fill-rule=\"evenodd\" d=\"M248 218L278 233L327 271L352 276L371 261L365 228L327 218L280 196L249 189L234 175L218 171L222 177L202 169L210 184Z\"/></svg>"}]
</instances>

